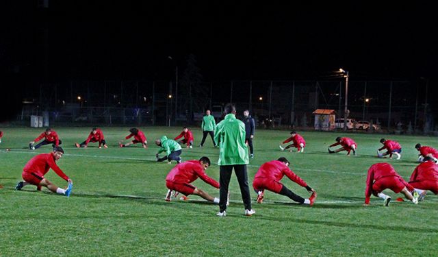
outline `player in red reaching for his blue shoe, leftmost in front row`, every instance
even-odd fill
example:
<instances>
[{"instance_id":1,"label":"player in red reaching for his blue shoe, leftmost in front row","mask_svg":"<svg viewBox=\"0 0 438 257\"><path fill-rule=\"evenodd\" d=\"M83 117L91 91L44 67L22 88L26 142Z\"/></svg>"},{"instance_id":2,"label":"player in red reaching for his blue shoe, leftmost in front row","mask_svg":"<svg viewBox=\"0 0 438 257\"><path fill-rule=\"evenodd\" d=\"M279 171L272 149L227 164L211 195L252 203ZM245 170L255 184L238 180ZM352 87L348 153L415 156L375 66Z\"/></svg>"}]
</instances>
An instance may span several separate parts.
<instances>
[{"instance_id":1,"label":"player in red reaching for his blue shoe, leftmost in front row","mask_svg":"<svg viewBox=\"0 0 438 257\"><path fill-rule=\"evenodd\" d=\"M32 184L37 186L38 189L41 186L45 186L53 193L70 196L70 193L73 189L73 181L70 180L70 178L68 178L68 176L64 174L64 172L62 172L60 167L57 167L56 164L56 161L60 160L63 154L64 149L62 149L62 147L53 147L53 152L49 154L38 154L37 156L31 158L25 165L23 173L21 174L24 181L18 182L18 184L15 186L15 189L21 190L23 186ZM57 175L68 182L66 189L59 188L47 180L47 178L44 178L44 175L49 171L49 169L53 169Z\"/></svg>"}]
</instances>

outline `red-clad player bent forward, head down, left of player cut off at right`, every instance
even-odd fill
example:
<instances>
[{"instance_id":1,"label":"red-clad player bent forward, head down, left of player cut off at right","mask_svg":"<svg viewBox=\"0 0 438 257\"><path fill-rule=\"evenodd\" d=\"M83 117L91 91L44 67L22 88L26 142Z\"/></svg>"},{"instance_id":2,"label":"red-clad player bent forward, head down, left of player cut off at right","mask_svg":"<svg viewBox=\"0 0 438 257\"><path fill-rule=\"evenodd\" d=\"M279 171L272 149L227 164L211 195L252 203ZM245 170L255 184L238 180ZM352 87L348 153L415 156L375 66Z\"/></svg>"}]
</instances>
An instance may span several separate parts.
<instances>
[{"instance_id":1,"label":"red-clad player bent forward, head down, left of player cut off at right","mask_svg":"<svg viewBox=\"0 0 438 257\"><path fill-rule=\"evenodd\" d=\"M413 186L404 181L391 164L383 162L372 164L370 169L368 169L365 206L370 204L371 195L381 197L384 199L383 205L389 206L391 197L382 193L387 188L394 191L394 193L403 193L407 199L411 200L414 204L418 204L419 195L414 191Z\"/></svg>"}]
</instances>

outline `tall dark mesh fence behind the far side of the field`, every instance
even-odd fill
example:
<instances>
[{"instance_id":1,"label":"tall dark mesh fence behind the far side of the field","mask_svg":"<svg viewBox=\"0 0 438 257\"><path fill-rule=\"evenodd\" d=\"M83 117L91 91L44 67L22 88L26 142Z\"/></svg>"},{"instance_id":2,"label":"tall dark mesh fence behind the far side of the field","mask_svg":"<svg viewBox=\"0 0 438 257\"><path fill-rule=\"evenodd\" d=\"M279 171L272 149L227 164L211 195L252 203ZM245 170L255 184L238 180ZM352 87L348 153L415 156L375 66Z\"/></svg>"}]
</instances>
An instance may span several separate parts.
<instances>
[{"instance_id":1,"label":"tall dark mesh fence behind the far side of the field","mask_svg":"<svg viewBox=\"0 0 438 257\"><path fill-rule=\"evenodd\" d=\"M407 130L409 123L414 131L435 130L422 86L409 81L350 80L349 117L372 120L388 130L400 124ZM231 102L240 112L250 110L259 123L293 127L303 122L311 126L311 113L317 108L333 109L337 117L344 117L345 82L232 81L187 86L140 80L70 81L41 84L26 92L29 96L18 121L47 111L51 121L62 123L193 124L206 109L221 112Z\"/></svg>"}]
</instances>

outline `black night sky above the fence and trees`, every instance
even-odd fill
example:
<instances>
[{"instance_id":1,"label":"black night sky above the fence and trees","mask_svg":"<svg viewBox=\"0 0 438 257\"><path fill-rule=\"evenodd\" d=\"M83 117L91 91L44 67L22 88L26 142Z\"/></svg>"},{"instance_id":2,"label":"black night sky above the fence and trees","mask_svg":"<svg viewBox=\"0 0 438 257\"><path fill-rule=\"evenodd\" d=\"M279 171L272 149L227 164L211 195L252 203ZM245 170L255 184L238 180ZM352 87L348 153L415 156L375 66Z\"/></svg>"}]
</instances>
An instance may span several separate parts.
<instances>
[{"instance_id":1,"label":"black night sky above the fence and trees","mask_svg":"<svg viewBox=\"0 0 438 257\"><path fill-rule=\"evenodd\" d=\"M343 67L351 79L427 77L435 88L438 74L436 9L420 2L10 2L0 10L0 75L9 88L168 80L190 53L205 81L322 79ZM2 113L21 94L14 90Z\"/></svg>"}]
</instances>

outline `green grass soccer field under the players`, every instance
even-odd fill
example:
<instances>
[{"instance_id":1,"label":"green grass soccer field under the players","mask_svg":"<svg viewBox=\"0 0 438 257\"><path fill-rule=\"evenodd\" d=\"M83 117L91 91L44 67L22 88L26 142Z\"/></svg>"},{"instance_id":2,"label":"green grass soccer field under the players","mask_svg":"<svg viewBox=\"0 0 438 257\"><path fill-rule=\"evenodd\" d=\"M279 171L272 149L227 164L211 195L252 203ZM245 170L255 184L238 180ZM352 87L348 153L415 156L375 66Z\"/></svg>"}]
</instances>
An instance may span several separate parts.
<instances>
[{"instance_id":1,"label":"green grass soccer field under the players","mask_svg":"<svg viewBox=\"0 0 438 257\"><path fill-rule=\"evenodd\" d=\"M240 189L233 175L227 217L216 217L218 206L191 196L188 201L164 201L165 178L175 164L155 162L155 138L174 138L181 127L140 127L149 148L120 148L129 127L103 127L108 149L90 143L77 149L90 128L55 127L65 154L57 162L73 179L73 193L64 197L26 186L15 191L26 162L51 151L46 145L30 151L29 141L42 129L6 128L0 144L0 256L435 256L438 243L438 197L424 201L395 201L389 208L372 196L362 206L368 168L389 162L406 180L417 165L416 143L438 147L437 138L380 134L347 134L356 140L357 156L328 154L327 146L341 133L299 132L307 141L304 154L282 152L279 143L288 131L257 130L255 158L248 165L252 185L258 167L285 156L292 171L315 191L312 207L294 204L287 197L266 192L256 213L245 217ZM207 174L219 179L218 149L194 129L195 147L183 148L183 160L207 156L213 162ZM376 158L379 139L395 139L403 147L401 160ZM5 151L10 148L10 151ZM53 171L46 178L58 186L66 182ZM302 197L309 193L286 177L282 182ZM216 188L202 180L196 186L218 197ZM252 186L251 186L252 188Z\"/></svg>"}]
</instances>

